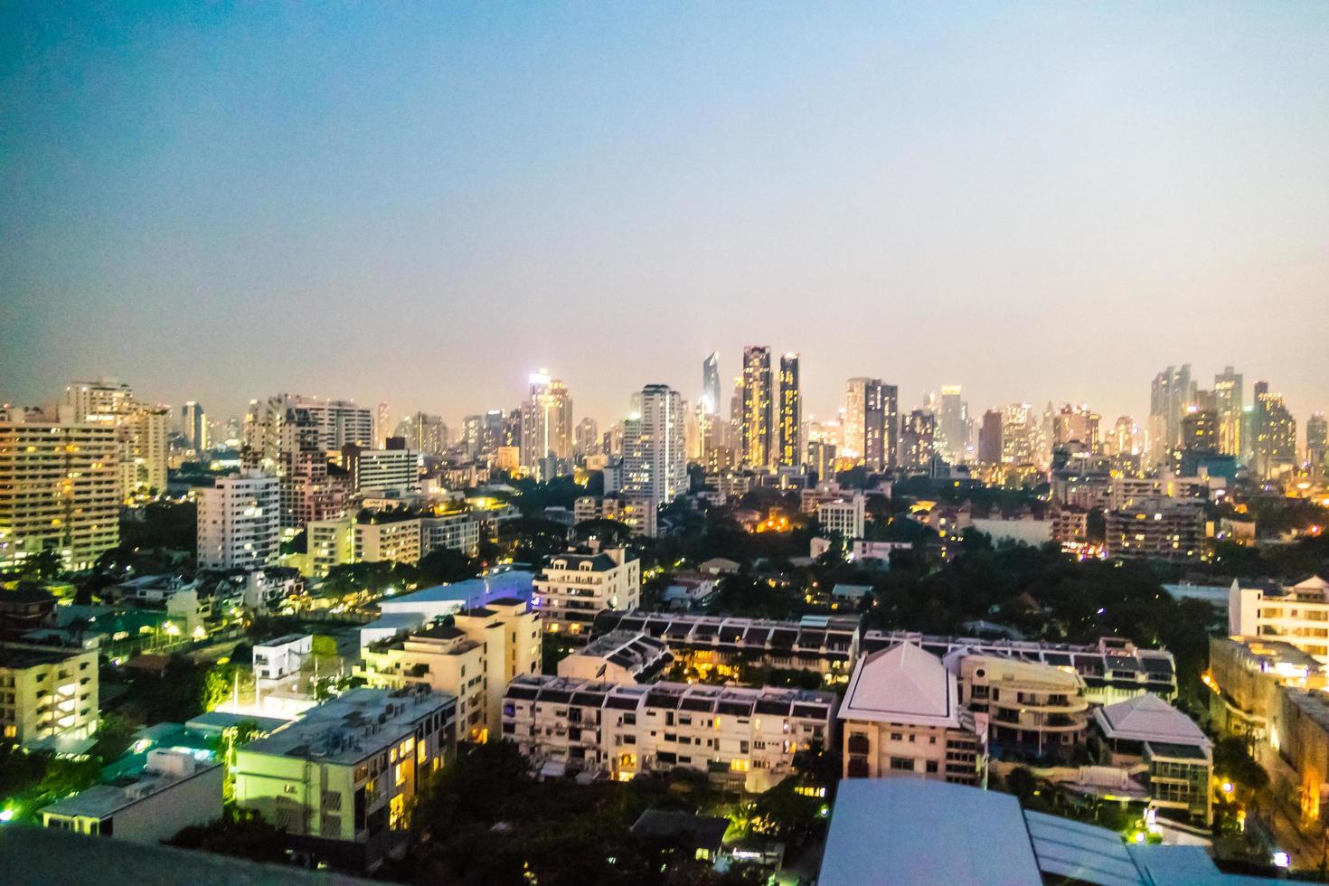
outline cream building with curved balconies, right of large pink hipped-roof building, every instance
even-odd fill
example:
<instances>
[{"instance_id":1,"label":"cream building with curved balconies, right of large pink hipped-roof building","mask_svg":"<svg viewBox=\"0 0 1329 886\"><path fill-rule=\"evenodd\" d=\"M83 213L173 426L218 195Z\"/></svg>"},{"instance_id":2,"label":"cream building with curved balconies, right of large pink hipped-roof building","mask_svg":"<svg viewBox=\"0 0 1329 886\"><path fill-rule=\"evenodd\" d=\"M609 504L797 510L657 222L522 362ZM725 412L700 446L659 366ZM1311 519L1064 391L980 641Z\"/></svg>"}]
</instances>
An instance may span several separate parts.
<instances>
[{"instance_id":1,"label":"cream building with curved balconies, right of large pink hipped-roof building","mask_svg":"<svg viewBox=\"0 0 1329 886\"><path fill-rule=\"evenodd\" d=\"M1088 699L1078 673L997 655L958 662L960 704L987 716L993 757L1062 756L1083 740Z\"/></svg>"}]
</instances>

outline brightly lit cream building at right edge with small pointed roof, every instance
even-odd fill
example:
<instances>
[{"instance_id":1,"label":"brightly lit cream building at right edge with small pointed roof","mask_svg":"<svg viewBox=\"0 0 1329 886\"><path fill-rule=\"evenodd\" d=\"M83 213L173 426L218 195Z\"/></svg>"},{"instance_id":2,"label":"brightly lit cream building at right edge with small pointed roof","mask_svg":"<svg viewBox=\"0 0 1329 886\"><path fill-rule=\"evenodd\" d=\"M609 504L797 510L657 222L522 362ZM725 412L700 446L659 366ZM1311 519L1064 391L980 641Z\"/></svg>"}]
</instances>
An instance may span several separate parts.
<instances>
[{"instance_id":1,"label":"brightly lit cream building at right edge with small pointed roof","mask_svg":"<svg viewBox=\"0 0 1329 886\"><path fill-rule=\"evenodd\" d=\"M1318 575L1292 586L1232 582L1228 634L1290 643L1329 664L1329 582Z\"/></svg>"}]
</instances>

